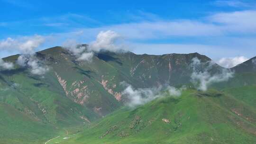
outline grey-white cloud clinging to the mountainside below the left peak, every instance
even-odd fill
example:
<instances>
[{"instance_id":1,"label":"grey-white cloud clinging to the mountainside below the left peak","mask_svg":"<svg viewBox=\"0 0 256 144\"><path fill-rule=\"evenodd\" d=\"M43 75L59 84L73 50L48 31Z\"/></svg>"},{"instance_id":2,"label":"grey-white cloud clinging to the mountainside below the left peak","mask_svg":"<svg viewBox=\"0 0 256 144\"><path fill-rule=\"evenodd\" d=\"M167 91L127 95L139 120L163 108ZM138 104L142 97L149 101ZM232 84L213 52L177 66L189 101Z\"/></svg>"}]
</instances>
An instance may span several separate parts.
<instances>
[{"instance_id":1,"label":"grey-white cloud clinging to the mountainside below the left peak","mask_svg":"<svg viewBox=\"0 0 256 144\"><path fill-rule=\"evenodd\" d=\"M49 71L49 67L39 61L35 55L20 55L17 60L18 65L27 66L32 74L44 75Z\"/></svg>"}]
</instances>

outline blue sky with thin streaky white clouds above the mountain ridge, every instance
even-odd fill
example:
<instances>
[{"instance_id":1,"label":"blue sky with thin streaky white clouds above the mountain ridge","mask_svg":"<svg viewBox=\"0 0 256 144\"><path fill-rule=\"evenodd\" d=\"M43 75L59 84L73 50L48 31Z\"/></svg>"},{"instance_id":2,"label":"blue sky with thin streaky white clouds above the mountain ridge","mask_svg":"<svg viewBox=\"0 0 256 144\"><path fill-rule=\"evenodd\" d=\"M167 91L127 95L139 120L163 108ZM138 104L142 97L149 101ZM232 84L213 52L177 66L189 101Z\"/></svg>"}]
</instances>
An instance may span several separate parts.
<instances>
[{"instance_id":1,"label":"blue sky with thin streaky white clouds above the mountain ridge","mask_svg":"<svg viewBox=\"0 0 256 144\"><path fill-rule=\"evenodd\" d=\"M256 56L256 0L0 0L1 58L106 31L136 54L197 52L232 67Z\"/></svg>"}]
</instances>

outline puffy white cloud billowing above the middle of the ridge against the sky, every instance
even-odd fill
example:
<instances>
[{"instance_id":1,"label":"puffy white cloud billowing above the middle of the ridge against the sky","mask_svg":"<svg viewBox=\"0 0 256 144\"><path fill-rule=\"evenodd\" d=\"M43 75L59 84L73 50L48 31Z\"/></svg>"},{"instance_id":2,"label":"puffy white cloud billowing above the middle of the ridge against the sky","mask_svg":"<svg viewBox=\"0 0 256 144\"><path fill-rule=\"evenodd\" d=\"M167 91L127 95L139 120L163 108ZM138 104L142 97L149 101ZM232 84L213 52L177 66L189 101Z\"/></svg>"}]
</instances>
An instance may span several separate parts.
<instances>
[{"instance_id":1,"label":"puffy white cloud billowing above the middle of the ridge against the sky","mask_svg":"<svg viewBox=\"0 0 256 144\"><path fill-rule=\"evenodd\" d=\"M99 52L101 50L117 52L124 48L123 45L118 43L121 38L122 37L114 31L101 31L96 40L91 42L89 49L95 52Z\"/></svg>"}]
</instances>

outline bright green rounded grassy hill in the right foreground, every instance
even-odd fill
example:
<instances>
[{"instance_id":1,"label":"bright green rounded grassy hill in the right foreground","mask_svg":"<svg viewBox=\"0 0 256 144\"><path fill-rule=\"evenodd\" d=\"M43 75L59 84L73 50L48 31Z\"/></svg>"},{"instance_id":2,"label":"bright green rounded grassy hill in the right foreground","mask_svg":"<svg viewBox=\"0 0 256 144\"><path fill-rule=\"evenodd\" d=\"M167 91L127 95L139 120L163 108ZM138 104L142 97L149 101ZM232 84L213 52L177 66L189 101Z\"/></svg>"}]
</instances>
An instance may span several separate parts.
<instances>
[{"instance_id":1,"label":"bright green rounded grassy hill in the right foreground","mask_svg":"<svg viewBox=\"0 0 256 144\"><path fill-rule=\"evenodd\" d=\"M122 108L66 137L52 144L255 144L256 111L216 90L186 90L180 98Z\"/></svg>"}]
</instances>

